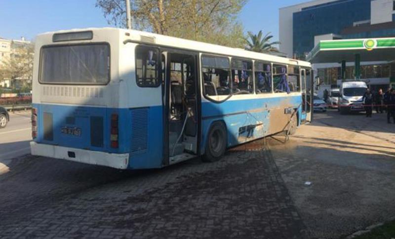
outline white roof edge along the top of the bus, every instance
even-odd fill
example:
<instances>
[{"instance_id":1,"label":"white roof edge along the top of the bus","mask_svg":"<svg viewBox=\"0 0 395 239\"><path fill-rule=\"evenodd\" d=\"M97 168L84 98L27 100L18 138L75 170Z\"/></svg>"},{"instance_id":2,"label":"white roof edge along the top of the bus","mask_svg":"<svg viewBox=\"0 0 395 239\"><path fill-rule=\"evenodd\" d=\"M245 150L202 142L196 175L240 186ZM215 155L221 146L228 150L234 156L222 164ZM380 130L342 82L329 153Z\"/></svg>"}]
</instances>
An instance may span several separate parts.
<instances>
[{"instance_id":1,"label":"white roof edge along the top of the bus","mask_svg":"<svg viewBox=\"0 0 395 239\"><path fill-rule=\"evenodd\" d=\"M284 57L278 57L274 55L264 54L264 53L257 53L252 51L247 51L241 48L232 48L226 47L221 45L215 45L200 41L194 40L187 40L167 35L160 35L148 32L141 32L136 30L127 30L127 29L119 29L119 28L85 28L85 29L72 29L72 30L62 30L56 32L47 32L41 35L48 35L48 34L56 34L56 33L73 33L73 32L82 32L82 31L92 31L95 34L108 34L108 32L118 31L119 35L123 37L124 40L130 40L132 42L141 42L147 44L158 44L161 46L167 47L175 47L185 50L193 50L202 53L209 53L209 54L219 54L219 55L229 55L233 57L241 57L241 58L249 58L255 60L262 60L268 62L274 62L279 64L287 64L287 65L296 65L302 67L311 67L309 62L300 61L300 60L293 60ZM94 41L94 39L93 39Z\"/></svg>"}]
</instances>

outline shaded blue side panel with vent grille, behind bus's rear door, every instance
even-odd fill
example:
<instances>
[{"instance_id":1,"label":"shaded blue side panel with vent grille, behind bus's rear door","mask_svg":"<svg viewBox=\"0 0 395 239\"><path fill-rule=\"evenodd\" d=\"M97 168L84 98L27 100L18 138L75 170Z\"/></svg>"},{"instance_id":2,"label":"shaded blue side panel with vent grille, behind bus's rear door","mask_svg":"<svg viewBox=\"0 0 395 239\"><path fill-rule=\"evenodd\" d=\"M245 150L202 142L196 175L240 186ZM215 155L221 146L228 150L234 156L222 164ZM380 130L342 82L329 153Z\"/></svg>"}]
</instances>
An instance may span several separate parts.
<instances>
[{"instance_id":1,"label":"shaded blue side panel with vent grille, behind bus's rear door","mask_svg":"<svg viewBox=\"0 0 395 239\"><path fill-rule=\"evenodd\" d=\"M151 106L129 110L130 169L163 167L163 107Z\"/></svg>"}]
</instances>

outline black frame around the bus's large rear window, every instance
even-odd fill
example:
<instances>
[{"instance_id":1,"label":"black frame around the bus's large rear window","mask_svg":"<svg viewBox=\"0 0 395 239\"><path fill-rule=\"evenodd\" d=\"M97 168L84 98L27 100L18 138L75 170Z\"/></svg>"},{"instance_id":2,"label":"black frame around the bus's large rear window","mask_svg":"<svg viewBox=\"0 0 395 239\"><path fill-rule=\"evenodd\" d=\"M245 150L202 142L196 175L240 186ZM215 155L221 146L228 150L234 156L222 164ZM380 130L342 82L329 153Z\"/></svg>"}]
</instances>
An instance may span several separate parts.
<instances>
[{"instance_id":1,"label":"black frame around the bus's large rear window","mask_svg":"<svg viewBox=\"0 0 395 239\"><path fill-rule=\"evenodd\" d=\"M49 47L58 47L58 46L79 46L79 45L107 45L109 49L109 66L108 66L108 80L106 83L62 83L62 82L43 82L41 81L41 66L42 66L42 49L43 48L49 48ZM38 81L40 85L79 85L79 86L105 86L108 85L111 82L111 44L107 41L101 41L101 42L80 42L80 43L61 43L61 44L47 44L47 45L42 45L40 47L40 57L39 57L39 75L38 75Z\"/></svg>"}]
</instances>

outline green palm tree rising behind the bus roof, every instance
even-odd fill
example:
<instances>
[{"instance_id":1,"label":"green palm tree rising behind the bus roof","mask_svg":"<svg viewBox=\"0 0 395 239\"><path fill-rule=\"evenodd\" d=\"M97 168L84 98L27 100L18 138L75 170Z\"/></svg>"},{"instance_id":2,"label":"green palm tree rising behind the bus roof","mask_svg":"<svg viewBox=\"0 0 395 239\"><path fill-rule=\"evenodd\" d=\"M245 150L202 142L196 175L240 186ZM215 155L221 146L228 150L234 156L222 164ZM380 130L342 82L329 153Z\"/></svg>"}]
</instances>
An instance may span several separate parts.
<instances>
[{"instance_id":1,"label":"green palm tree rising behind the bus roof","mask_svg":"<svg viewBox=\"0 0 395 239\"><path fill-rule=\"evenodd\" d=\"M270 52L278 52L277 47L274 45L280 44L279 41L270 42L270 39L273 38L273 35L270 33L266 34L262 38L262 31L259 31L258 34L253 34L248 32L248 38L245 38L245 42L247 44L246 49L249 51L255 51L260 53L270 53Z\"/></svg>"}]
</instances>

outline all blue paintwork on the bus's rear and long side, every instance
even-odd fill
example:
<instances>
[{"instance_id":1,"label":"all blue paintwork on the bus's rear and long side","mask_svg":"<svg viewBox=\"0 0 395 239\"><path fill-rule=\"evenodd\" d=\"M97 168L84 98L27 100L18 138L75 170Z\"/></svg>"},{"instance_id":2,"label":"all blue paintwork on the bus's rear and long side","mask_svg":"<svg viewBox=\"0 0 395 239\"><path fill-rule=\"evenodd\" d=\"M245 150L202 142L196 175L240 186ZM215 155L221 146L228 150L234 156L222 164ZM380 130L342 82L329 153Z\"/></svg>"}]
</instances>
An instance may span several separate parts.
<instances>
[{"instance_id":1,"label":"all blue paintwork on the bus's rear and long side","mask_svg":"<svg viewBox=\"0 0 395 239\"><path fill-rule=\"evenodd\" d=\"M301 97L278 97L263 98L249 100L227 101L220 104L212 102L202 102L202 134L200 150L204 153L206 136L211 124L215 121L222 120L228 131L228 146L235 146L243 141L238 138L239 130L242 127L255 126L253 129L253 138L259 138L267 135L270 130L270 113L269 111L275 107L284 108L299 107L299 115L301 112ZM163 111L162 106L147 107L147 116L142 112L143 108L105 108L105 107L87 107L87 106L70 106L55 104L33 104L38 109L38 137L35 139L38 143L53 144L70 148L88 149L93 151L102 151L109 153L130 153L129 169L151 169L163 167ZM135 115L133 121L133 112L139 111L141 115ZM143 110L144 111L144 110ZM51 113L53 116L53 140L48 141L43 138L43 113ZM110 146L110 119L111 114L118 114L119 120L119 147L118 149ZM90 117L103 117L103 147L93 147L90 144ZM70 117L74 117L75 121ZM140 131L133 137L132 121L142 122L147 117L146 125L136 126ZM70 124L74 122L74 125ZM67 124L69 123L69 124ZM81 136L69 136L61 133L62 127L77 127L81 129ZM141 132L141 127L147 127L147 133ZM247 127L248 128L248 127ZM147 136L147 138L145 138ZM133 139L134 138L134 139ZM144 139L145 138L145 139ZM146 140L146 148L144 142L132 140ZM137 151L133 145L138 144ZM141 149L139 151L139 149Z\"/></svg>"}]
</instances>

